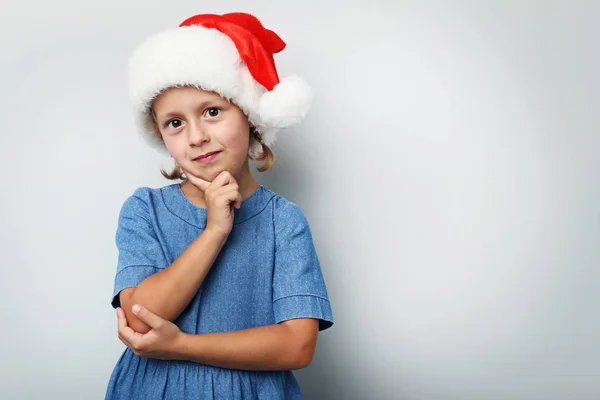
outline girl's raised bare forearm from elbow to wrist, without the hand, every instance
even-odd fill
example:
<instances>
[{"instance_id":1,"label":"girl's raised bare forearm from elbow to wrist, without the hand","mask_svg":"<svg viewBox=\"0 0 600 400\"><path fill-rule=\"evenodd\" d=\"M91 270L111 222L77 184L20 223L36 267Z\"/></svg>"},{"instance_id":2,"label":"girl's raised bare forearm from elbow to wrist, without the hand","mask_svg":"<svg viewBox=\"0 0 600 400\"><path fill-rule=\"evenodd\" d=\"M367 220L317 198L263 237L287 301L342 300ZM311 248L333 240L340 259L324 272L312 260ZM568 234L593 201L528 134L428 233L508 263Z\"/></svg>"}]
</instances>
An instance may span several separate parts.
<instances>
[{"instance_id":1,"label":"girl's raised bare forearm from elbow to wrist, without the hand","mask_svg":"<svg viewBox=\"0 0 600 400\"><path fill-rule=\"evenodd\" d=\"M122 290L119 297L129 326L140 333L150 330L131 311L136 303L174 321L198 291L226 238L206 229L170 266L144 279L137 287Z\"/></svg>"}]
</instances>

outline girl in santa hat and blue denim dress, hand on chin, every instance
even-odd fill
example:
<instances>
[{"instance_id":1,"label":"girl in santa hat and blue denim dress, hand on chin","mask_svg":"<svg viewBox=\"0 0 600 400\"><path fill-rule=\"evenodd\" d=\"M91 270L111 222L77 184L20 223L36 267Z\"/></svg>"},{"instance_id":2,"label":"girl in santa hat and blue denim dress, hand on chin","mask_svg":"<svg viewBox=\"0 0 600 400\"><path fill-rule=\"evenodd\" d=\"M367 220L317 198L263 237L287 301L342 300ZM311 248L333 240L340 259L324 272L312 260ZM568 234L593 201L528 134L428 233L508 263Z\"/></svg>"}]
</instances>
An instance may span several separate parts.
<instances>
[{"instance_id":1,"label":"girl in santa hat and blue denim dress, hand on chin","mask_svg":"<svg viewBox=\"0 0 600 400\"><path fill-rule=\"evenodd\" d=\"M176 162L159 189L124 203L112 305L127 345L106 399L300 399L333 324L311 231L297 205L259 185L278 129L311 91L279 80L285 43L255 17L196 15L130 60L130 94L149 142Z\"/></svg>"}]
</instances>

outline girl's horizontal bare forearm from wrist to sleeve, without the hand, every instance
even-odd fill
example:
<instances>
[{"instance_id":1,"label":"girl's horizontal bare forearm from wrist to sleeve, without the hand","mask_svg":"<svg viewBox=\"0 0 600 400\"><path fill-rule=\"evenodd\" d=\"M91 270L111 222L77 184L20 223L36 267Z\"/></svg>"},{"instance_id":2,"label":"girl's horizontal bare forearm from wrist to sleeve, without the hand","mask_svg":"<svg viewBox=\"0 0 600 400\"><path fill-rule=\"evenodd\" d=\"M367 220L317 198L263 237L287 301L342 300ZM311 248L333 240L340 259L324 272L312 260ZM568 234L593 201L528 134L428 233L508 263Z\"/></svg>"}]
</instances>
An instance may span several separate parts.
<instances>
[{"instance_id":1,"label":"girl's horizontal bare forearm from wrist to sleeve, without the hand","mask_svg":"<svg viewBox=\"0 0 600 400\"><path fill-rule=\"evenodd\" d=\"M294 319L234 332L183 334L180 359L221 368L275 371L306 368L317 346L318 321Z\"/></svg>"}]
</instances>

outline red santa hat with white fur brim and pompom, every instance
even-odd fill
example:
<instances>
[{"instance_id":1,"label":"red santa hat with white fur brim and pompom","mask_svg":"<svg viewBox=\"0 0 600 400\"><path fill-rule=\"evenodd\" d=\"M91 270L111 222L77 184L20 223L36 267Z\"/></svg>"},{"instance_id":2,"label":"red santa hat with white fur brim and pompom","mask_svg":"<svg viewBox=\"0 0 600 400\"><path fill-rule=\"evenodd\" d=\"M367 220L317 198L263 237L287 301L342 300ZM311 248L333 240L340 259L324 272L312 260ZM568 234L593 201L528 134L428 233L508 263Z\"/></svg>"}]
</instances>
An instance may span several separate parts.
<instances>
[{"instance_id":1,"label":"red santa hat with white fur brim and pompom","mask_svg":"<svg viewBox=\"0 0 600 400\"><path fill-rule=\"evenodd\" d=\"M194 86L231 100L265 144L300 122L312 91L298 76L279 79L273 55L286 44L246 13L200 14L154 34L133 52L129 93L137 128L166 151L152 118L152 101L171 87Z\"/></svg>"}]
</instances>

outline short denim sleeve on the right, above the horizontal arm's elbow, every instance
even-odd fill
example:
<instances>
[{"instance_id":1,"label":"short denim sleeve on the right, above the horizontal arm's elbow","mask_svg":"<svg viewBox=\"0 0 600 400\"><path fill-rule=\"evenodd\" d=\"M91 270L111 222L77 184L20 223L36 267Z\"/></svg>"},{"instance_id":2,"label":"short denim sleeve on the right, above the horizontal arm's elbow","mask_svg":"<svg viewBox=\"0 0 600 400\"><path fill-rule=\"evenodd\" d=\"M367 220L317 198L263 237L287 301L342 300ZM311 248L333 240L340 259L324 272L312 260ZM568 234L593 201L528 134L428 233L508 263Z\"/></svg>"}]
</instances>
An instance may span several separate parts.
<instances>
[{"instance_id":1,"label":"short denim sleeve on the right, above the horizontal arm's elbow","mask_svg":"<svg viewBox=\"0 0 600 400\"><path fill-rule=\"evenodd\" d=\"M276 209L273 310L277 323L295 318L319 320L319 330L333 325L333 314L312 233L293 203Z\"/></svg>"}]
</instances>

